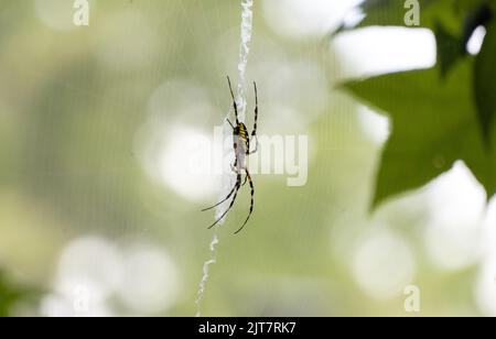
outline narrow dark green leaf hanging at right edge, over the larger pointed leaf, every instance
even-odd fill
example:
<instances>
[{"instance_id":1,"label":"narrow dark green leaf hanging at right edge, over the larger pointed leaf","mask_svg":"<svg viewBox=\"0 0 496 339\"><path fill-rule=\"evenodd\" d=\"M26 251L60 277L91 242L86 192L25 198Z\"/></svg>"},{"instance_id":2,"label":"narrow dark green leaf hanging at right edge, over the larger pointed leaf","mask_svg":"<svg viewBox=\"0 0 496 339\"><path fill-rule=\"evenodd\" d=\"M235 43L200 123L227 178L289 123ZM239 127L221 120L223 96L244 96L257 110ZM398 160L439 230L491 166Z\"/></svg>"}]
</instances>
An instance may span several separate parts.
<instances>
[{"instance_id":1,"label":"narrow dark green leaf hanging at right edge, over the larger pointed leaf","mask_svg":"<svg viewBox=\"0 0 496 339\"><path fill-rule=\"evenodd\" d=\"M483 46L475 59L474 92L478 120L486 141L496 114L496 25L487 28Z\"/></svg>"}]
</instances>

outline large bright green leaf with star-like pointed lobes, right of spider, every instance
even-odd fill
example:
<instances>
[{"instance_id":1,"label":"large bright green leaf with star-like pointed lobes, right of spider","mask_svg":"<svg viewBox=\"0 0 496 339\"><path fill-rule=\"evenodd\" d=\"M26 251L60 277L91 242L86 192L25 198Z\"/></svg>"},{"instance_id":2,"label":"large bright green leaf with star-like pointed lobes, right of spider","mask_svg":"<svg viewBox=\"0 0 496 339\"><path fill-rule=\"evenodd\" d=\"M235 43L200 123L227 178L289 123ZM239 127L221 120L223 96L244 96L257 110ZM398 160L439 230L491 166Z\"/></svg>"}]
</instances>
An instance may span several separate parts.
<instances>
[{"instance_id":1,"label":"large bright green leaf with star-like pointed lobes, right of spider","mask_svg":"<svg viewBox=\"0 0 496 339\"><path fill-rule=\"evenodd\" d=\"M354 96L387 112L392 133L382 153L373 207L421 187L463 160L488 195L496 192L496 146L481 138L471 90L472 59L444 78L439 67L396 73L345 85Z\"/></svg>"}]
</instances>

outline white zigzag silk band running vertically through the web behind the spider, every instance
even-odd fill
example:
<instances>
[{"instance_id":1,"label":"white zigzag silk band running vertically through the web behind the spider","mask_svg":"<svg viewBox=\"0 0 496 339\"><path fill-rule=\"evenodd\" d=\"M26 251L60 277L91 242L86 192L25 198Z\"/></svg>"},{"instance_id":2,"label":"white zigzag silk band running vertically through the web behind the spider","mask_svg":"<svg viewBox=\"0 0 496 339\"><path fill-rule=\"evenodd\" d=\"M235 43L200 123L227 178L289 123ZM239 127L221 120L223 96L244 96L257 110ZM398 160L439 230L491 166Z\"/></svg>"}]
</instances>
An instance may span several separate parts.
<instances>
[{"instance_id":1,"label":"white zigzag silk band running vertically through the web behind the spider","mask_svg":"<svg viewBox=\"0 0 496 339\"><path fill-rule=\"evenodd\" d=\"M239 63L238 63L238 88L237 88L237 98L236 102L238 106L238 117L240 121L245 120L245 111L246 111L246 98L245 98L245 72L246 66L248 64L248 53L249 53L249 42L251 41L251 29L252 29L252 12L254 7L254 0L241 0L241 26L240 26L240 45L239 45ZM229 112L227 113L226 118L229 118ZM226 119L225 119L226 120ZM233 130L230 125L224 121L223 124L223 134L224 140L230 138L233 135ZM229 147L226 143L224 143L224 150L223 153L225 155L228 155L233 153L233 149ZM225 156L224 158L226 158ZM228 163L223 164L223 177L222 177L222 189L219 193L219 198L223 199L233 188L235 185L235 175L233 174L230 166ZM224 204L220 204L215 209L215 218L220 218L220 216L224 214L226 209L226 205L228 205L229 201L225 201ZM214 236L211 241L209 245L209 258L204 262L203 264L203 275L202 280L198 284L198 291L196 293L196 316L202 316L202 300L203 296L205 294L206 284L208 283L208 273L211 265L216 263L217 255L216 255L216 245L219 242L219 237L217 233L218 226L224 223L225 217L217 223L217 226L214 229Z\"/></svg>"}]
</instances>

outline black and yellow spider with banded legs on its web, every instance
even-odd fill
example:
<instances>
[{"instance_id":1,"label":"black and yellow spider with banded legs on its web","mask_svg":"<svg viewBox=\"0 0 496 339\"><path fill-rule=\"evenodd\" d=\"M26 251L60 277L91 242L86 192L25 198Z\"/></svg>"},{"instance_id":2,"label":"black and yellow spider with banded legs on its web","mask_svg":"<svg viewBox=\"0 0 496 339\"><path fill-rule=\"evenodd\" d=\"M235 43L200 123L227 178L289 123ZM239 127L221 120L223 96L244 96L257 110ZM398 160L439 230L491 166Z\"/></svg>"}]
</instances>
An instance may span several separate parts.
<instances>
[{"instance_id":1,"label":"black and yellow spider with banded legs on its web","mask_svg":"<svg viewBox=\"0 0 496 339\"><path fill-rule=\"evenodd\" d=\"M257 118L258 118L258 98L257 98L257 83L254 81L254 88L255 88L255 122L254 122L254 130L251 131L251 134L248 134L248 129L246 128L245 123L239 122L238 118L238 107L236 105L236 100L233 92L233 87L230 86L230 79L227 77L227 84L229 85L230 96L233 98L233 106L236 117L236 124L234 125L229 119L226 119L227 122L229 122L230 127L233 128L233 147L235 153L235 162L230 165L230 168L234 173L236 173L236 184L233 187L233 189L229 192L229 194L219 203L215 204L214 206L211 206L208 208L203 209L202 211L209 210L212 208L215 208L223 204L224 201L227 201L230 197L233 199L230 200L229 207L226 209L226 211L213 223L208 227L208 229L216 226L230 210L233 207L236 197L238 195L238 190L241 186L245 186L246 182L248 181L251 189L251 201L250 201L250 211L248 214L248 217L245 219L245 222L242 226L235 232L235 234L239 233L244 228L245 225L248 222L251 212L254 211L254 196L255 196L255 188L254 188L254 182L251 179L251 175L248 172L247 165L246 165L246 157L250 154L254 154L258 150L258 138L257 138ZM250 141L256 140L255 143L255 150L250 151ZM245 181L241 184L241 176L242 172L245 172Z\"/></svg>"}]
</instances>

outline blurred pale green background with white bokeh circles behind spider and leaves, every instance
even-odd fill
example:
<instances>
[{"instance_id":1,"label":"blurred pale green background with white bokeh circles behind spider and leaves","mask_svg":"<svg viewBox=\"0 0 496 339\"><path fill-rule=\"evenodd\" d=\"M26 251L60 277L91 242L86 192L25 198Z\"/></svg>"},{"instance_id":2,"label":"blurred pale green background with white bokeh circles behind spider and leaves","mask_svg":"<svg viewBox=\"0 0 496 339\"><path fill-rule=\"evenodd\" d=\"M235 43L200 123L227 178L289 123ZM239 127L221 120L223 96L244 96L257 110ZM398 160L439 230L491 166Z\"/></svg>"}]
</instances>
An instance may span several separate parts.
<instances>
[{"instance_id":1,"label":"blurred pale green background with white bokeh circles behind spider and leaves","mask_svg":"<svg viewBox=\"0 0 496 339\"><path fill-rule=\"evenodd\" d=\"M219 176L184 168L231 105L240 1L89 2L80 28L73 1L0 4L0 315L193 316L213 236L200 210ZM240 194L205 316L418 315L409 285L422 316L496 315L496 203L463 163L369 212L390 124L337 85L430 67L435 41L398 28L331 39L358 2L255 1L259 132L308 135L309 177L255 175L252 219L233 236Z\"/></svg>"}]
</instances>

